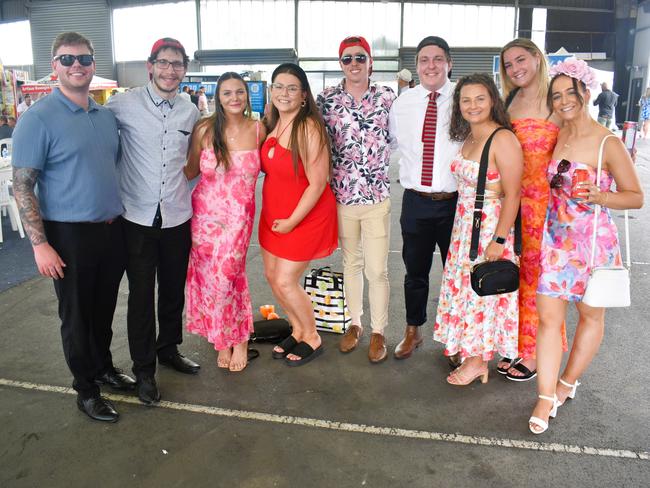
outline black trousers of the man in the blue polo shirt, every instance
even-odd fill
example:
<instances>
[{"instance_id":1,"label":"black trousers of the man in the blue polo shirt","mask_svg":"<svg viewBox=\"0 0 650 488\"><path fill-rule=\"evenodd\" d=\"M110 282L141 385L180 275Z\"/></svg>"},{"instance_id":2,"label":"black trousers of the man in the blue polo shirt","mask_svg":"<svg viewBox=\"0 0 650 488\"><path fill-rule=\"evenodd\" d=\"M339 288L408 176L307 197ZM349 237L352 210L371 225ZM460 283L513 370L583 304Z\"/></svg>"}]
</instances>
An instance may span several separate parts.
<instances>
[{"instance_id":1,"label":"black trousers of the man in the blue polo shirt","mask_svg":"<svg viewBox=\"0 0 650 488\"><path fill-rule=\"evenodd\" d=\"M49 244L66 264L54 290L72 386L82 398L97 396L94 378L113 366L111 325L126 262L122 220L45 221L44 226Z\"/></svg>"}]
</instances>

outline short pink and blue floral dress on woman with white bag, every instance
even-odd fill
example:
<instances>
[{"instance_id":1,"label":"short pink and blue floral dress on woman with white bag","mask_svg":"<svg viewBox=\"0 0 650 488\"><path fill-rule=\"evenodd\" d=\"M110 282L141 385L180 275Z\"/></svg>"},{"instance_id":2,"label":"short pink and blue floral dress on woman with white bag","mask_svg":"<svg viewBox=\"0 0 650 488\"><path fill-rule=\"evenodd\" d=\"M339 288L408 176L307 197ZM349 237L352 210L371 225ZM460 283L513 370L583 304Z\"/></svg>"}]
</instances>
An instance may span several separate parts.
<instances>
[{"instance_id":1,"label":"short pink and blue floral dress on woman with white bag","mask_svg":"<svg viewBox=\"0 0 650 488\"><path fill-rule=\"evenodd\" d=\"M558 160L551 161L547 173L549 182L557 173L559 163ZM537 288L537 293L541 295L569 302L581 301L585 293L594 229L595 205L571 198L571 176L577 168L589 171L591 181L596 181L596 168L571 161L567 172L562 174L562 186L551 188ZM601 170L600 190L609 191L612 182L611 174ZM622 265L618 230L607 208L602 208L598 215L594 263L596 266Z\"/></svg>"}]
</instances>

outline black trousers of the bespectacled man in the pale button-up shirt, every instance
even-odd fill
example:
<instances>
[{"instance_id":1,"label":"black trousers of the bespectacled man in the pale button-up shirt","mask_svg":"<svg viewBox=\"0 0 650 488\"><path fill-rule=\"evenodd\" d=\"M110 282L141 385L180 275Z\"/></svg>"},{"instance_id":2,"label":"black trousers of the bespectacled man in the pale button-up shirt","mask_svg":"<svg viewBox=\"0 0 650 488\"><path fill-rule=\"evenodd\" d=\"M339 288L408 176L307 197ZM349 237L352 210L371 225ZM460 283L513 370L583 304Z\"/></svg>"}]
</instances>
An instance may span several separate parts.
<instances>
[{"instance_id":1,"label":"black trousers of the bespectacled man in the pale button-up shirt","mask_svg":"<svg viewBox=\"0 0 650 488\"><path fill-rule=\"evenodd\" d=\"M185 278L192 247L190 221L160 229L124 221L129 278L127 328L136 377L152 376L158 357L177 352L183 342ZM158 279L156 339L155 287Z\"/></svg>"}]
</instances>

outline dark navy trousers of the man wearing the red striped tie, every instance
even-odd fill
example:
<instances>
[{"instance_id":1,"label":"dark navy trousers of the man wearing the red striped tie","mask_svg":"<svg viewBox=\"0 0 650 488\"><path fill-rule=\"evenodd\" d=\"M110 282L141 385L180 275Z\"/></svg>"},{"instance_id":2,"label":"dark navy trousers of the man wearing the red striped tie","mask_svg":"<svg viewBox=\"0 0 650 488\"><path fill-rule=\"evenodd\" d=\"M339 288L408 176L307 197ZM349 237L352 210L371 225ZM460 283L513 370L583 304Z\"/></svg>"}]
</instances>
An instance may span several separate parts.
<instances>
[{"instance_id":1,"label":"dark navy trousers of the man wearing the red striped tie","mask_svg":"<svg viewBox=\"0 0 650 488\"><path fill-rule=\"evenodd\" d=\"M404 299L406 324L422 325L427 321L429 272L436 246L444 267L454 226L457 198L431 200L409 190L402 199L402 259L406 267Z\"/></svg>"}]
</instances>

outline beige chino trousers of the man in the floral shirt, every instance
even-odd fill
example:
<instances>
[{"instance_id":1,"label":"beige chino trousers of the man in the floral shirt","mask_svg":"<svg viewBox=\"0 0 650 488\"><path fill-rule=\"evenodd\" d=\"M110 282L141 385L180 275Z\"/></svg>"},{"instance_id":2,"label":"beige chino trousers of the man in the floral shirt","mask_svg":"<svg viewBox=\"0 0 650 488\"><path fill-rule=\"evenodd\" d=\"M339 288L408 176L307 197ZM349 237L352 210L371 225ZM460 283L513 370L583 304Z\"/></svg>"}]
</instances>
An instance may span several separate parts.
<instances>
[{"instance_id":1,"label":"beige chino trousers of the man in the floral shirt","mask_svg":"<svg viewBox=\"0 0 650 488\"><path fill-rule=\"evenodd\" d=\"M390 198L374 205L337 204L343 251L345 298L352 323L361 325L363 273L368 280L370 326L382 334L388 323Z\"/></svg>"}]
</instances>

